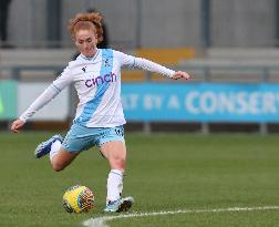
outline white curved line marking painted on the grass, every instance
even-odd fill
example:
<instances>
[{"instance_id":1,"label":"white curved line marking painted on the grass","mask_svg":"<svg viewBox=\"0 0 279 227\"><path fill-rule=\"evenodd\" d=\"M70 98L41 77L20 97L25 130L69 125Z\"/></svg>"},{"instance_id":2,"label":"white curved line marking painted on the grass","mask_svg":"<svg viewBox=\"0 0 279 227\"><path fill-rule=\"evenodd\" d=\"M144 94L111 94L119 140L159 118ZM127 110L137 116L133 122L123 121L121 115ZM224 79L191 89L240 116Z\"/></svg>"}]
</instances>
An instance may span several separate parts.
<instances>
[{"instance_id":1,"label":"white curved line marking painted on the grass","mask_svg":"<svg viewBox=\"0 0 279 227\"><path fill-rule=\"evenodd\" d=\"M228 207L228 208L216 208L216 209L178 209L170 211L154 211L154 213L132 213L127 215L117 216L102 216L97 218L90 218L83 221L83 226L86 227L110 227L106 221L114 219L123 219L131 217L148 217L159 215L174 215L174 214L199 214L199 213L227 213L227 211L254 211L254 210L272 210L279 209L279 206L262 206L262 207Z\"/></svg>"}]
</instances>

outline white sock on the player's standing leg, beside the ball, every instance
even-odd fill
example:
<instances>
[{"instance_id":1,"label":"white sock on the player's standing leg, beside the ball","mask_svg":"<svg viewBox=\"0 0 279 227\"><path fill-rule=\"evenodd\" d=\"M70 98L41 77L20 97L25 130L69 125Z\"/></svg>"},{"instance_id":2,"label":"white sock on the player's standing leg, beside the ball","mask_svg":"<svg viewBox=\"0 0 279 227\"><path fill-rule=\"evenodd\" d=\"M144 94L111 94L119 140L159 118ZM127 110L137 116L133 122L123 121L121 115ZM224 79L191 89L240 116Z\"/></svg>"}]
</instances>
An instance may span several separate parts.
<instances>
[{"instance_id":1,"label":"white sock on the player's standing leg, beside the ball","mask_svg":"<svg viewBox=\"0 0 279 227\"><path fill-rule=\"evenodd\" d=\"M108 202L114 202L121 198L121 194L123 190L123 178L124 174L118 169L111 169L108 177L107 177L107 196L106 196L106 204Z\"/></svg>"}]
</instances>

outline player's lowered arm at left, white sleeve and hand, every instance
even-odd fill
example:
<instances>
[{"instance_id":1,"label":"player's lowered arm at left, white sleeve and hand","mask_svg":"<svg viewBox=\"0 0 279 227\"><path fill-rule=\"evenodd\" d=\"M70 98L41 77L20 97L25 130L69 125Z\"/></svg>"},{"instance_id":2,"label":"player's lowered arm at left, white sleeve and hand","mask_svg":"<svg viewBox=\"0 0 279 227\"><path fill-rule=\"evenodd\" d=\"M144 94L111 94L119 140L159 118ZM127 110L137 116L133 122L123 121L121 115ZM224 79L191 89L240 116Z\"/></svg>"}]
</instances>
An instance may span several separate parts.
<instances>
[{"instance_id":1,"label":"player's lowered arm at left, white sleeve and hand","mask_svg":"<svg viewBox=\"0 0 279 227\"><path fill-rule=\"evenodd\" d=\"M34 115L39 110L53 100L66 85L72 82L69 66L61 73L61 75L53 81L53 83L44 90L44 92L38 96L34 102L24 111L21 116L16 120L11 125L11 131L19 133L19 130L25 124L25 122Z\"/></svg>"}]
</instances>

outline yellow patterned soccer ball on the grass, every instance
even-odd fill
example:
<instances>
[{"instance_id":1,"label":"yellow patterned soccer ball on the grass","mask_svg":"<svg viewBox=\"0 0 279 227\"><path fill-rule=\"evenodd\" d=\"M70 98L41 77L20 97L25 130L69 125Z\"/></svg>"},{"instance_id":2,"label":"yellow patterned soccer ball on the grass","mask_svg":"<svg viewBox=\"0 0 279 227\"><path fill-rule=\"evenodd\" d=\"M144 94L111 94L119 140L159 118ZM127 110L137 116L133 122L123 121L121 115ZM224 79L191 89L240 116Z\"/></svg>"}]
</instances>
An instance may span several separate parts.
<instances>
[{"instance_id":1,"label":"yellow patterned soccer ball on the grass","mask_svg":"<svg viewBox=\"0 0 279 227\"><path fill-rule=\"evenodd\" d=\"M63 195L63 206L68 213L86 213L93 208L94 194L85 186L70 187Z\"/></svg>"}]
</instances>

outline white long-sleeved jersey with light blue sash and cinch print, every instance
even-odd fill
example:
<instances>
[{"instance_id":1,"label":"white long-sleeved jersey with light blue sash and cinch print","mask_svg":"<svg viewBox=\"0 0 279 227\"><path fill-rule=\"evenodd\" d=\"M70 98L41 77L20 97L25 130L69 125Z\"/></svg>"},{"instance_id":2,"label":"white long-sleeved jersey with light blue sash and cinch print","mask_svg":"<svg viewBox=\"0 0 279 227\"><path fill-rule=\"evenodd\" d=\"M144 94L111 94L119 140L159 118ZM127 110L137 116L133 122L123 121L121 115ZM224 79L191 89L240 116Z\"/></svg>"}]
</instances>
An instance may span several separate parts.
<instances>
[{"instance_id":1,"label":"white long-sleeved jersey with light blue sash and cinch print","mask_svg":"<svg viewBox=\"0 0 279 227\"><path fill-rule=\"evenodd\" d=\"M80 54L75 61L71 61L20 118L25 122L66 85L74 83L80 100L74 123L86 127L113 127L125 124L121 103L121 68L124 65L166 76L174 74L173 70L148 60L111 49L97 49L93 58Z\"/></svg>"}]
</instances>

